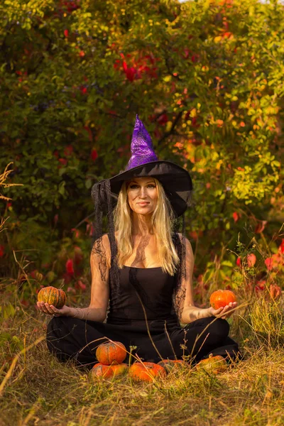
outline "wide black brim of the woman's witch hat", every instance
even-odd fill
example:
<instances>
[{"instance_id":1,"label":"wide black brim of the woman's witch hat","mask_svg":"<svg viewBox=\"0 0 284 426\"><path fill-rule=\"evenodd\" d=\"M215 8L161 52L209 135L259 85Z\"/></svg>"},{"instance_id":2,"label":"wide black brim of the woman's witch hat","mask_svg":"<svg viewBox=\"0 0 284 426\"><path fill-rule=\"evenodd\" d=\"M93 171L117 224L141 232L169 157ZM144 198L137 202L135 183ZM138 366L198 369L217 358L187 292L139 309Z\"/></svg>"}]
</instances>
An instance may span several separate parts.
<instances>
[{"instance_id":1,"label":"wide black brim of the woman's witch hat","mask_svg":"<svg viewBox=\"0 0 284 426\"><path fill-rule=\"evenodd\" d=\"M187 170L170 161L152 161L110 178L111 195L115 198L118 197L121 185L125 180L144 178L145 176L159 180L176 216L181 216L190 204L192 180Z\"/></svg>"}]
</instances>

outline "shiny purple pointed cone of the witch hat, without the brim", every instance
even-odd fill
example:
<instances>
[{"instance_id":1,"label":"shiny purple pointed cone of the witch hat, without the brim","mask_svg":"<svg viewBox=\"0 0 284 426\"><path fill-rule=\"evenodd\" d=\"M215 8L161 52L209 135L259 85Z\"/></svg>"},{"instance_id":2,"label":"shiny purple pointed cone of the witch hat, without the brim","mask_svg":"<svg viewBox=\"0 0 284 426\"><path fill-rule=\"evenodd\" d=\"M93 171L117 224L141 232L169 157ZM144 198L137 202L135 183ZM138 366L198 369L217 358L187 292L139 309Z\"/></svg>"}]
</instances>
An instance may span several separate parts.
<instances>
[{"instance_id":1,"label":"shiny purple pointed cone of the witch hat, without the brim","mask_svg":"<svg viewBox=\"0 0 284 426\"><path fill-rule=\"evenodd\" d=\"M136 114L136 121L131 140L131 158L126 166L126 170L157 160L158 157L155 155L151 136L145 129L142 121L139 119L138 114Z\"/></svg>"}]
</instances>

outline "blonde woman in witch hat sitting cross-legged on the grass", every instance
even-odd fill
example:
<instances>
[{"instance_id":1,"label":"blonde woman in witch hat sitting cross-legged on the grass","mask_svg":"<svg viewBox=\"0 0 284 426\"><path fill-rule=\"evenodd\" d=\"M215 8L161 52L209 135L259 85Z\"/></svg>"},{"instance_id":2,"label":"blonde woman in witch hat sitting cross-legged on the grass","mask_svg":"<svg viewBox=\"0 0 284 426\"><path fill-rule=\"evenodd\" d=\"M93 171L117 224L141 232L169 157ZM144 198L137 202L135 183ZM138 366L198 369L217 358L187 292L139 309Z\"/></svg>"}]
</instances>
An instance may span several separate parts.
<instances>
[{"instance_id":1,"label":"blonde woman in witch hat sitting cross-legged on the grass","mask_svg":"<svg viewBox=\"0 0 284 426\"><path fill-rule=\"evenodd\" d=\"M75 359L89 368L97 346L109 339L124 343L143 361L185 356L197 362L209 354L236 359L238 345L228 337L226 322L236 302L218 310L195 307L192 247L184 234L173 231L190 202L190 175L158 160L138 116L131 153L123 173L92 190L96 236L89 307L58 310L38 302L40 311L53 316L48 349L62 361ZM102 234L104 209L107 234Z\"/></svg>"}]
</instances>

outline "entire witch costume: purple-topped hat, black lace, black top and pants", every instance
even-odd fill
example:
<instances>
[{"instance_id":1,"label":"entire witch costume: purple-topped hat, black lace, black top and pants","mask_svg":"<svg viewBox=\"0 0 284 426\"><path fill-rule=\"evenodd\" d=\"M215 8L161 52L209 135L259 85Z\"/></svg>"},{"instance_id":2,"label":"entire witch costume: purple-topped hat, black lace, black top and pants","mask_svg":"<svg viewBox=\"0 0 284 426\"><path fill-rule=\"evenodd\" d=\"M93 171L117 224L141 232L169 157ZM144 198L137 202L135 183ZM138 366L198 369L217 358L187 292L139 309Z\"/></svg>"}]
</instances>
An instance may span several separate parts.
<instances>
[{"instance_id":1,"label":"entire witch costume: purple-topped hat, black lace, black top and pants","mask_svg":"<svg viewBox=\"0 0 284 426\"><path fill-rule=\"evenodd\" d=\"M107 322L53 317L48 324L48 349L61 361L73 359L80 366L92 368L97 362L97 346L109 339L122 342L126 349L143 361L184 359L192 362L221 355L228 360L240 356L238 344L229 337L226 320L207 317L180 326L181 302L185 297L184 213L190 204L192 180L187 170L169 161L160 161L153 151L151 137L136 116L131 141L131 159L126 170L92 188L94 200L94 244L99 255L102 280L107 273L107 256L102 244L103 217L107 215L111 247L109 271L109 312ZM180 258L175 275L158 268L136 268L116 263L118 248L114 234L113 210L125 180L151 176L159 180L177 218L182 217L182 237L172 234Z\"/></svg>"}]
</instances>

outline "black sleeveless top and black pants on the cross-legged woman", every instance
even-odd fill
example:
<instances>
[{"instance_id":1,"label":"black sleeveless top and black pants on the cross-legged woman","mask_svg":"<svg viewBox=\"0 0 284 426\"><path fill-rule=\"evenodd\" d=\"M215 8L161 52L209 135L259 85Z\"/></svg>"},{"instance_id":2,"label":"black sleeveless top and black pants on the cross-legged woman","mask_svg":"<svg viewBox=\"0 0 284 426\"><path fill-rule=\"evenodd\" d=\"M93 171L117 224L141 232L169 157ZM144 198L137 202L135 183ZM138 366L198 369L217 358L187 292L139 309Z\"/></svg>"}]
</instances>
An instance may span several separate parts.
<instances>
[{"instance_id":1,"label":"black sleeveless top and black pants on the cross-legged woman","mask_svg":"<svg viewBox=\"0 0 284 426\"><path fill-rule=\"evenodd\" d=\"M211 353L227 359L240 356L238 344L228 337L226 320L209 317L180 327L173 309L175 275L162 268L128 266L120 275L119 293L110 294L107 322L72 317L53 317L49 322L48 349L58 359L74 359L92 368L97 346L108 339L122 342L143 361L187 356L197 362Z\"/></svg>"}]
</instances>

